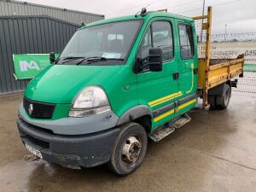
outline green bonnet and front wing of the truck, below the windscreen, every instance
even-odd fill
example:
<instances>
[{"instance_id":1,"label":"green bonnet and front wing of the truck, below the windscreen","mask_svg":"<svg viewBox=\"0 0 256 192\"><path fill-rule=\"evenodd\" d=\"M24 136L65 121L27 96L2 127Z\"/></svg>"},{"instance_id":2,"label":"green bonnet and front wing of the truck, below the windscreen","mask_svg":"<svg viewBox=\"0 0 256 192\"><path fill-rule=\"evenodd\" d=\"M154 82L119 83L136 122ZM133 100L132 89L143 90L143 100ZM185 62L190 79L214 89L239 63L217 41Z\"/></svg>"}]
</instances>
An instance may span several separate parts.
<instances>
[{"instance_id":1,"label":"green bonnet and front wing of the truck, below the windscreen","mask_svg":"<svg viewBox=\"0 0 256 192\"><path fill-rule=\"evenodd\" d=\"M101 86L113 111L120 115L137 105L135 75L129 67L52 65L27 85L25 96L33 101L71 104L79 91L90 85ZM125 86L129 89L125 89ZM63 111L65 115L68 111ZM63 115L54 114L57 119Z\"/></svg>"}]
</instances>

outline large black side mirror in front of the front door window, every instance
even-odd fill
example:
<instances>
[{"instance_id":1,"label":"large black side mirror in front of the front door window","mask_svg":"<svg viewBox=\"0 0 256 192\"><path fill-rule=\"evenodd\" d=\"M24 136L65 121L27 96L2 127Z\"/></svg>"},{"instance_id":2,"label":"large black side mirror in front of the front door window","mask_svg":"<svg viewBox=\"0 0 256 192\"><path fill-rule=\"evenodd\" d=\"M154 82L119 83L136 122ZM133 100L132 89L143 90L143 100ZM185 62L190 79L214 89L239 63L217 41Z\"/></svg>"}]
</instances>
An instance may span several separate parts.
<instances>
[{"instance_id":1,"label":"large black side mirror in front of the front door window","mask_svg":"<svg viewBox=\"0 0 256 192\"><path fill-rule=\"evenodd\" d=\"M160 48L149 49L148 65L151 72L160 72L163 67L163 50Z\"/></svg>"}]
</instances>

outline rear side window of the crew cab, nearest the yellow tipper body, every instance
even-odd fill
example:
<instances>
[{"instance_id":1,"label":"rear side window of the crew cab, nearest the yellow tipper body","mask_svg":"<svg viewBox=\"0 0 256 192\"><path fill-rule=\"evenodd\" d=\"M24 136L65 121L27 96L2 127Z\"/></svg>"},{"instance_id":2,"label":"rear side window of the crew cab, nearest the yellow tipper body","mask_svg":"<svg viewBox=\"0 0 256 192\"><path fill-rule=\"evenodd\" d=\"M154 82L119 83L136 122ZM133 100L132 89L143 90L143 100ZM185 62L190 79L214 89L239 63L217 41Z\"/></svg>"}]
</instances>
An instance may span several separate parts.
<instances>
[{"instance_id":1,"label":"rear side window of the crew cab, nearest the yellow tipper body","mask_svg":"<svg viewBox=\"0 0 256 192\"><path fill-rule=\"evenodd\" d=\"M194 57L194 42L191 26L178 25L180 54L183 59L192 59Z\"/></svg>"}]
</instances>

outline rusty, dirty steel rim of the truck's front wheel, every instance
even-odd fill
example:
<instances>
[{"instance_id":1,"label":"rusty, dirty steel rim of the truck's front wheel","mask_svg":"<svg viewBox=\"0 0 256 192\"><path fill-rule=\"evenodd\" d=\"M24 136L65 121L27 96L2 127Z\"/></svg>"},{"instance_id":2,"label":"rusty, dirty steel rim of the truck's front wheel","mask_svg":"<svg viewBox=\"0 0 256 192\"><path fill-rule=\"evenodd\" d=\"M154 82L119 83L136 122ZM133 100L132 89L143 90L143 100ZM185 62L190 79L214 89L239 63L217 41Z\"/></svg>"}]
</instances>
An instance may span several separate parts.
<instances>
[{"instance_id":1,"label":"rusty, dirty steel rim of the truck's front wheel","mask_svg":"<svg viewBox=\"0 0 256 192\"><path fill-rule=\"evenodd\" d=\"M128 137L122 148L122 161L125 165L136 162L142 149L142 144L137 137Z\"/></svg>"}]
</instances>

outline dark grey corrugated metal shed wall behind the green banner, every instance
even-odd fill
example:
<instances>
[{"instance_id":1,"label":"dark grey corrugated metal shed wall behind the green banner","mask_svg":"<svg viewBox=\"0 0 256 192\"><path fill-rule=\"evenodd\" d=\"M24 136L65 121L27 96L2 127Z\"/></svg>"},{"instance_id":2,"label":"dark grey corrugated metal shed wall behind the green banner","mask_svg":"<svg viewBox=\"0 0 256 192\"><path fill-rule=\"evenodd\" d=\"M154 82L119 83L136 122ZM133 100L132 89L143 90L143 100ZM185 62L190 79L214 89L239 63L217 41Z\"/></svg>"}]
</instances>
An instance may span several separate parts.
<instances>
[{"instance_id":1,"label":"dark grey corrugated metal shed wall behind the green banner","mask_svg":"<svg viewBox=\"0 0 256 192\"><path fill-rule=\"evenodd\" d=\"M29 80L15 80L13 54L60 53L79 25L49 16L0 17L0 95L23 90Z\"/></svg>"}]
</instances>

